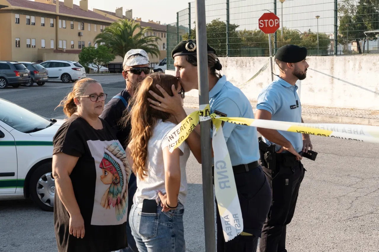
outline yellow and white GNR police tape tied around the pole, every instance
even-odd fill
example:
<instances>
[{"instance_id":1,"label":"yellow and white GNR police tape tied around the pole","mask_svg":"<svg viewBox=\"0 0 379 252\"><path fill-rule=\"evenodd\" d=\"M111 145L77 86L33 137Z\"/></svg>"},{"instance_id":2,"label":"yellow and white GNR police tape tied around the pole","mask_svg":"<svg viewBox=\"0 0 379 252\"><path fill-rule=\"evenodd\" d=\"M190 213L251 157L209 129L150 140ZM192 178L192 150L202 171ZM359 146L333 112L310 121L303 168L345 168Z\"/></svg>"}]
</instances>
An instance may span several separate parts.
<instances>
[{"instance_id":1,"label":"yellow and white GNR police tape tied around the pole","mask_svg":"<svg viewBox=\"0 0 379 252\"><path fill-rule=\"evenodd\" d=\"M172 152L175 148L181 145L195 129L199 121L206 120L212 120L213 122L212 148L215 164L215 194L225 241L230 241L240 234L246 235L246 233L242 232L243 221L241 207L238 201L229 152L222 133L222 121L258 128L335 137L360 142L379 143L379 127L376 126L323 123L309 124L240 117L219 117L216 114L210 114L209 104L206 104L200 105L200 110L188 115L168 133L169 151Z\"/></svg>"}]
</instances>

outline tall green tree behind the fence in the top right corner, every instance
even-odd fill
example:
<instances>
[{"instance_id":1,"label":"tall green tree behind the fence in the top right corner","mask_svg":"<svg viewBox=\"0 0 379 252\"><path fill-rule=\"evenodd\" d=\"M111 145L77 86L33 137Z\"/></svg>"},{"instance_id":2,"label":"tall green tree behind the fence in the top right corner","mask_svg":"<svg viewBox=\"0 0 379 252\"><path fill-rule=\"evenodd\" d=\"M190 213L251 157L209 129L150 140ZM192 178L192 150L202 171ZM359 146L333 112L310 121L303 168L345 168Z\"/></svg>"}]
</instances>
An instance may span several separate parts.
<instances>
[{"instance_id":1,"label":"tall green tree behind the fence in the top right corner","mask_svg":"<svg viewBox=\"0 0 379 252\"><path fill-rule=\"evenodd\" d=\"M366 40L376 40L373 33L365 31L379 29L379 0L341 0L338 3L340 24L338 26L338 42L348 44L356 41L358 53L362 53L360 40L365 53Z\"/></svg>"}]
</instances>

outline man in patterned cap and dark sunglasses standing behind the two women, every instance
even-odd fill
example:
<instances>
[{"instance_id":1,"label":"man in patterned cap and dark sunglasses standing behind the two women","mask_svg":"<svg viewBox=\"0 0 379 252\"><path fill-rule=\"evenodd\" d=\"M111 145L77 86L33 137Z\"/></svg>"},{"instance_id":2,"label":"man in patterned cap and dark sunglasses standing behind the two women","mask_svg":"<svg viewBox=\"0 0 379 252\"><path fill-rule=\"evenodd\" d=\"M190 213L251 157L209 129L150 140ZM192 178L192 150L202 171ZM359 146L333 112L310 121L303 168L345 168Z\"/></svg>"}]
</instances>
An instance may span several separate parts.
<instances>
[{"instance_id":1,"label":"man in patterned cap and dark sunglasses standing behind the two women","mask_svg":"<svg viewBox=\"0 0 379 252\"><path fill-rule=\"evenodd\" d=\"M139 83L150 73L149 56L146 51L141 49L132 49L125 54L122 64L122 76L126 82L126 88L114 96L104 107L103 113L100 115L115 130L117 139L122 147L126 149L127 140L129 138L131 126L121 127L118 125L124 110L128 106L130 97L134 95L138 89ZM130 208L133 205L133 197L137 189L136 177L132 173L128 182L128 216ZM138 252L135 240L130 230L129 222L127 222L128 247L121 250L122 252Z\"/></svg>"}]
</instances>

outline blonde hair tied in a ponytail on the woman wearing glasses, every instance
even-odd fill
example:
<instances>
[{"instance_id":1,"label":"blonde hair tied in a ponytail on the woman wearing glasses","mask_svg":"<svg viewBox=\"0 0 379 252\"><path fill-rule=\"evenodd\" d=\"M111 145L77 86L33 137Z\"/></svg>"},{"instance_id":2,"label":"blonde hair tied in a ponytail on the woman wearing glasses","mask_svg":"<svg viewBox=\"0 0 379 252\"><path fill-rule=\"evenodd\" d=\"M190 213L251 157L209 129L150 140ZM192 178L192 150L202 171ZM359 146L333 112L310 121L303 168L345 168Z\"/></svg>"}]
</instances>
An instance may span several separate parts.
<instances>
[{"instance_id":1,"label":"blonde hair tied in a ponytail on the woman wearing glasses","mask_svg":"<svg viewBox=\"0 0 379 252\"><path fill-rule=\"evenodd\" d=\"M78 110L74 98L82 96L86 92L86 88L89 86L89 84L92 83L97 83L97 81L90 78L85 78L77 81L72 88L72 91L59 103L57 107L63 107L63 113L67 117L70 117Z\"/></svg>"}]
</instances>

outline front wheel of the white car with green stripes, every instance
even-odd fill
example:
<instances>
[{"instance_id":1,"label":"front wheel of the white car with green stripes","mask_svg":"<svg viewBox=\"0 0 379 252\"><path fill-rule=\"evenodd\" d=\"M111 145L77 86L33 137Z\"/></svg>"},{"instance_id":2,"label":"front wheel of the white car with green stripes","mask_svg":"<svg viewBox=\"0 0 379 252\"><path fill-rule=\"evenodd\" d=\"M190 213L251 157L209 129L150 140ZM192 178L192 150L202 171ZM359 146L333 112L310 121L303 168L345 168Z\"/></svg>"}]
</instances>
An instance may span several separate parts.
<instances>
[{"instance_id":1,"label":"front wheel of the white car with green stripes","mask_svg":"<svg viewBox=\"0 0 379 252\"><path fill-rule=\"evenodd\" d=\"M30 177L30 197L45 211L54 210L55 181L52 175L52 163L39 166Z\"/></svg>"}]
</instances>

